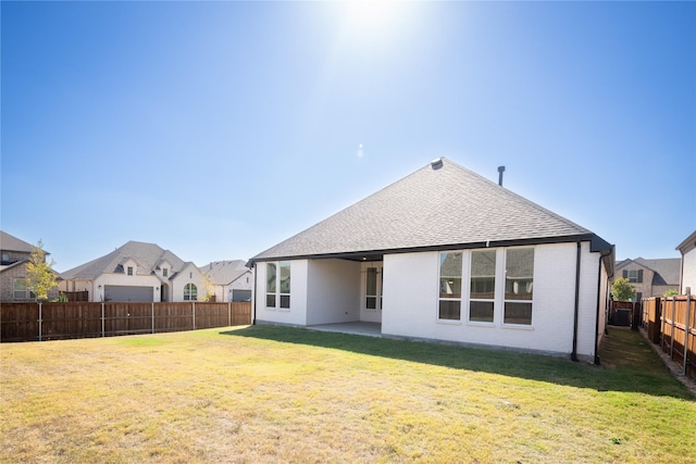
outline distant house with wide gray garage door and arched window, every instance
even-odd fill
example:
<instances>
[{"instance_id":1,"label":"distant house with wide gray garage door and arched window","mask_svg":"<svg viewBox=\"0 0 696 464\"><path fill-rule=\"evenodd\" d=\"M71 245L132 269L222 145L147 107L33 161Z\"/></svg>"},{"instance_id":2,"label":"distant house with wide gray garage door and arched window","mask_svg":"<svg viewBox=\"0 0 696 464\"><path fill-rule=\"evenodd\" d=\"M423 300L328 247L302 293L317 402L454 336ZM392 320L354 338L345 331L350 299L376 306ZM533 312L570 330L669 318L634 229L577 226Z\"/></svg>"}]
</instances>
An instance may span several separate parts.
<instances>
[{"instance_id":1,"label":"distant house with wide gray garage door and arched window","mask_svg":"<svg viewBox=\"0 0 696 464\"><path fill-rule=\"evenodd\" d=\"M61 274L63 291L87 291L89 301L200 301L206 278L191 262L154 243L129 241Z\"/></svg>"}]
</instances>

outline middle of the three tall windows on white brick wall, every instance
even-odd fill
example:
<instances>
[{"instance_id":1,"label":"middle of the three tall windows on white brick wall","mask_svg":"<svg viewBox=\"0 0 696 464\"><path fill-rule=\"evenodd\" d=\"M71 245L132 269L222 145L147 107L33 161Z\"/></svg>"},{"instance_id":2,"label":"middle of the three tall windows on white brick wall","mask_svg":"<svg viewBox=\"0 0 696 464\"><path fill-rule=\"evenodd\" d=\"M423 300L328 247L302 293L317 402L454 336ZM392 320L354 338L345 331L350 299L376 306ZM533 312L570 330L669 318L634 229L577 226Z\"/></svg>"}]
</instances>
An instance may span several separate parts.
<instances>
[{"instance_id":1,"label":"middle of the three tall windows on white brick wall","mask_svg":"<svg viewBox=\"0 0 696 464\"><path fill-rule=\"evenodd\" d=\"M492 323L496 297L496 250L471 252L469 321Z\"/></svg>"}]
</instances>

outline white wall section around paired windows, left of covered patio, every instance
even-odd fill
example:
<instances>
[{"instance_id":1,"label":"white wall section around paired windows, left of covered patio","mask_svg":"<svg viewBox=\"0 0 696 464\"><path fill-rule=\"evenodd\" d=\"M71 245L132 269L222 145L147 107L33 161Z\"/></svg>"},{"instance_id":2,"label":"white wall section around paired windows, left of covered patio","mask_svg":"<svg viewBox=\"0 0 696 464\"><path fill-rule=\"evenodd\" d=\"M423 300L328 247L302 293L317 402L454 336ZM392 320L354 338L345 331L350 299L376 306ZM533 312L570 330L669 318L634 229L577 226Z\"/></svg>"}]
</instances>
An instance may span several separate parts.
<instances>
[{"instance_id":1,"label":"white wall section around paired windows, left of covered patio","mask_svg":"<svg viewBox=\"0 0 696 464\"><path fill-rule=\"evenodd\" d=\"M277 263L277 262L276 262ZM307 325L307 260L290 261L290 308L265 306L265 269L266 263L256 264L257 288L254 291L256 319L260 323Z\"/></svg>"}]
</instances>

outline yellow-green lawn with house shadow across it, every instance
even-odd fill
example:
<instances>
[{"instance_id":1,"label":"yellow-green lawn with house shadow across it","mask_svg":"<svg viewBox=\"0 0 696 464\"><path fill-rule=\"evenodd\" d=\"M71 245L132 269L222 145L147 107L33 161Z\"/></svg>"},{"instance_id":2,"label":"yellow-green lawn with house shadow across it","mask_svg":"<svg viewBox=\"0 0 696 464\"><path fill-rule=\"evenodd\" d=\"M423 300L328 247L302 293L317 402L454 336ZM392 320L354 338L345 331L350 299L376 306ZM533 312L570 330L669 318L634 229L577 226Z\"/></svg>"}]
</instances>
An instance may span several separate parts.
<instances>
[{"instance_id":1,"label":"yellow-green lawn with house shadow across it","mask_svg":"<svg viewBox=\"0 0 696 464\"><path fill-rule=\"evenodd\" d=\"M623 329L599 367L269 326L0 350L0 462L696 460L696 399Z\"/></svg>"}]
</instances>

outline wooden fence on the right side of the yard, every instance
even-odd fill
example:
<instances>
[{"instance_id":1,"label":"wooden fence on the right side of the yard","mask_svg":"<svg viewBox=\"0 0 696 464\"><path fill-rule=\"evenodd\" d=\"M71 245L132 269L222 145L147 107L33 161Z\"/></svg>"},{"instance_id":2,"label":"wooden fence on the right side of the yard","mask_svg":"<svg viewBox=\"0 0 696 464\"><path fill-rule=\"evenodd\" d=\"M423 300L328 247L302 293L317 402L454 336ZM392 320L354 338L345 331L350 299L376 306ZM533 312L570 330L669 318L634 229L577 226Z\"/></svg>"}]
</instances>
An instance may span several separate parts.
<instances>
[{"instance_id":1,"label":"wooden fence on the right side of the yard","mask_svg":"<svg viewBox=\"0 0 696 464\"><path fill-rule=\"evenodd\" d=\"M696 300L689 296L643 300L643 327L682 372L696 379Z\"/></svg>"}]
</instances>

